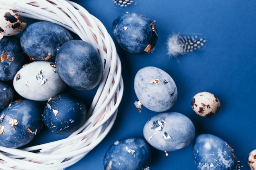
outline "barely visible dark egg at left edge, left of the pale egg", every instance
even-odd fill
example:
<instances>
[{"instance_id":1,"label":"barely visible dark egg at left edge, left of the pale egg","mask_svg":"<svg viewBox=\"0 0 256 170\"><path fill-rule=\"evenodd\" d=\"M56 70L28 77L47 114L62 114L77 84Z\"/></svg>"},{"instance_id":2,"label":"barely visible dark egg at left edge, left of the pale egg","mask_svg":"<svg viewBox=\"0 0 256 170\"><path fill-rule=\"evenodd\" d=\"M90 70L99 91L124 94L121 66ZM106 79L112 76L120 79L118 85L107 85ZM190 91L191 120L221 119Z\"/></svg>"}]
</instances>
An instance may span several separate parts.
<instances>
[{"instance_id":1,"label":"barely visible dark egg at left edge, left of the pale egg","mask_svg":"<svg viewBox=\"0 0 256 170\"><path fill-rule=\"evenodd\" d=\"M13 100L13 89L6 83L0 82L0 112Z\"/></svg>"}]
</instances>

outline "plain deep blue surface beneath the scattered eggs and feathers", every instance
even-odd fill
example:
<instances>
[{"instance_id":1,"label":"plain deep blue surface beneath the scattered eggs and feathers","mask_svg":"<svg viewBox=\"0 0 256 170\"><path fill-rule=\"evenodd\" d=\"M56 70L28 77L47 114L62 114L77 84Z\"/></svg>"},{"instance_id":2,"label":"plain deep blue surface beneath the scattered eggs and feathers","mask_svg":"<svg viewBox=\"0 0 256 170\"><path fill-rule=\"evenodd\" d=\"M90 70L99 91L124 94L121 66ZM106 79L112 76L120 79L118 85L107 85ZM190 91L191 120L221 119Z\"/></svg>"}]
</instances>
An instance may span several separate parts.
<instances>
[{"instance_id":1,"label":"plain deep blue surface beneath the scattered eggs and feathers","mask_svg":"<svg viewBox=\"0 0 256 170\"><path fill-rule=\"evenodd\" d=\"M242 170L249 170L247 157L256 149L256 2L254 0L135 0L136 5L118 8L112 0L76 0L103 22L111 33L112 22L126 11L155 20L158 40L153 54L131 54L117 46L122 62L124 97L117 120L108 136L78 163L66 170L103 170L108 147L125 137L142 137L146 121L155 112L142 108L138 113L133 79L144 66L157 66L173 77L177 102L169 111L189 117L196 136L210 133L234 148ZM169 58L166 40L172 33L202 34L207 46L176 58ZM220 99L220 111L200 117L191 108L192 97L209 91ZM196 170L192 144L169 152L152 150L150 170Z\"/></svg>"}]
</instances>

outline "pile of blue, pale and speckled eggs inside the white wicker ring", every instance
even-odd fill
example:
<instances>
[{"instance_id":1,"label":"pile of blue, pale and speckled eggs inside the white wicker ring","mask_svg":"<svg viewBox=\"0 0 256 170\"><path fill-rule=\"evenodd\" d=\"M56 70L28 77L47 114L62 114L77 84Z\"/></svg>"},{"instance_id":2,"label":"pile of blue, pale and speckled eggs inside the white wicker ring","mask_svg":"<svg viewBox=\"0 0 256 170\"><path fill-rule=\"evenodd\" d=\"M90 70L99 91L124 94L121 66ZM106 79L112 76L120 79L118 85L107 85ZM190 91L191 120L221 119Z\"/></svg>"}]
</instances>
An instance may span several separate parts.
<instances>
[{"instance_id":1,"label":"pile of blue, pale and speckled eggs inside the white wicker ring","mask_svg":"<svg viewBox=\"0 0 256 170\"><path fill-rule=\"evenodd\" d=\"M0 145L20 148L43 126L57 134L78 130L87 119L85 103L64 90L99 84L103 61L97 49L53 22L27 26L9 9L0 9L0 16Z\"/></svg>"}]
</instances>

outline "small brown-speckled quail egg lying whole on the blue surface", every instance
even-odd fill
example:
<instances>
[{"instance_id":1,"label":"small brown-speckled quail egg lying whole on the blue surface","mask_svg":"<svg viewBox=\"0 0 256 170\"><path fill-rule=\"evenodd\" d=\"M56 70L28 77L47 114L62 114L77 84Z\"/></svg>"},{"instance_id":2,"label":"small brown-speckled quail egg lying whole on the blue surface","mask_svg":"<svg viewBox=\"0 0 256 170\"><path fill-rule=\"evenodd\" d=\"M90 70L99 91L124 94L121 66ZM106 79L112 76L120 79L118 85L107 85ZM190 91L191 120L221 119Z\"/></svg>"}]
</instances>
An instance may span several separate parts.
<instances>
[{"instance_id":1,"label":"small brown-speckled quail egg lying whole on the blue surface","mask_svg":"<svg viewBox=\"0 0 256 170\"><path fill-rule=\"evenodd\" d=\"M220 110L220 101L212 93L197 93L191 101L192 109L202 117L215 115Z\"/></svg>"}]
</instances>

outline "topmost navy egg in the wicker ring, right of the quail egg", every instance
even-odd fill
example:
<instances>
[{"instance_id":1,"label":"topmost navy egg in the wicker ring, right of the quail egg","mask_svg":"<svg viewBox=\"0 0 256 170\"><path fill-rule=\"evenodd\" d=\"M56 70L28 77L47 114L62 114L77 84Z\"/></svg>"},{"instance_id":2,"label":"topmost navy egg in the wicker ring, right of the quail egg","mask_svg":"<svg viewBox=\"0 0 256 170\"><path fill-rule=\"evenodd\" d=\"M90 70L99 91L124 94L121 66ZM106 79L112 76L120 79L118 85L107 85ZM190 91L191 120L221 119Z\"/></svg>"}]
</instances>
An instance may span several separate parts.
<instances>
[{"instance_id":1,"label":"topmost navy egg in the wicker ring, right of the quail egg","mask_svg":"<svg viewBox=\"0 0 256 170\"><path fill-rule=\"evenodd\" d=\"M73 40L64 27L49 21L39 21L27 26L20 36L24 52L35 60L54 60L61 45Z\"/></svg>"}]
</instances>

